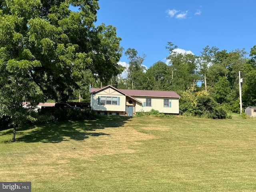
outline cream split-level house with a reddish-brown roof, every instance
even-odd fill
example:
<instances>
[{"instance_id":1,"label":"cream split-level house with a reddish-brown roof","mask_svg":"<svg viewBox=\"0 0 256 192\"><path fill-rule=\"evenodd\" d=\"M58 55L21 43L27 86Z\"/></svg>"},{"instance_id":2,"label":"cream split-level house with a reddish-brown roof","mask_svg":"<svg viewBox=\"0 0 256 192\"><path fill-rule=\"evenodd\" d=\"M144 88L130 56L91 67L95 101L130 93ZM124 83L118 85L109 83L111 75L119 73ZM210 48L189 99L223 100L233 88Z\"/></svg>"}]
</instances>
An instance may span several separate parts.
<instances>
[{"instance_id":1,"label":"cream split-level house with a reddish-brown roof","mask_svg":"<svg viewBox=\"0 0 256 192\"><path fill-rule=\"evenodd\" d=\"M91 88L92 110L102 115L134 116L151 109L164 114L179 114L180 96L173 91Z\"/></svg>"}]
</instances>

